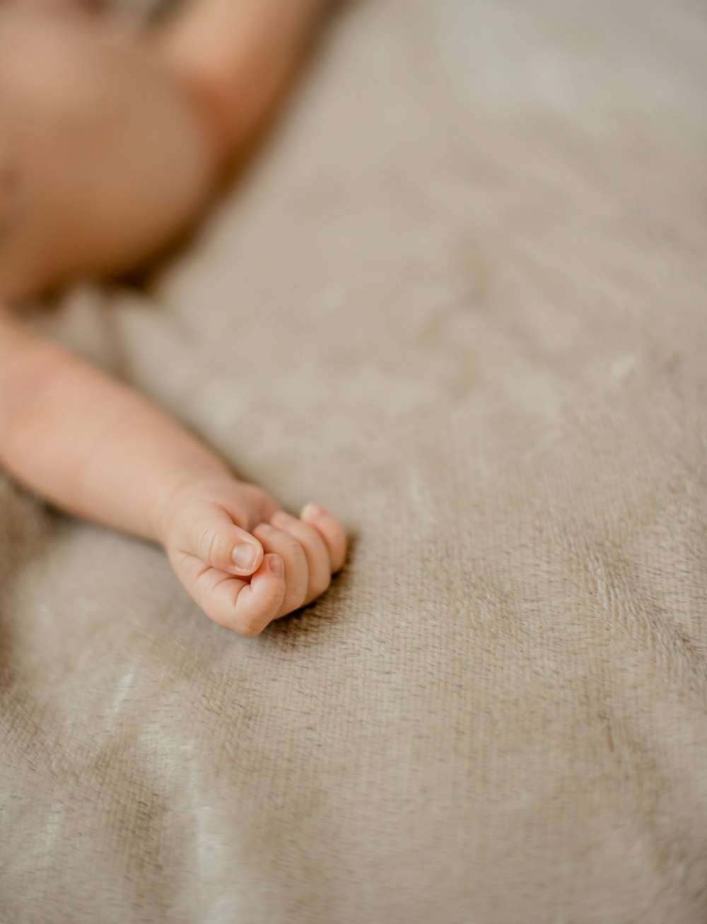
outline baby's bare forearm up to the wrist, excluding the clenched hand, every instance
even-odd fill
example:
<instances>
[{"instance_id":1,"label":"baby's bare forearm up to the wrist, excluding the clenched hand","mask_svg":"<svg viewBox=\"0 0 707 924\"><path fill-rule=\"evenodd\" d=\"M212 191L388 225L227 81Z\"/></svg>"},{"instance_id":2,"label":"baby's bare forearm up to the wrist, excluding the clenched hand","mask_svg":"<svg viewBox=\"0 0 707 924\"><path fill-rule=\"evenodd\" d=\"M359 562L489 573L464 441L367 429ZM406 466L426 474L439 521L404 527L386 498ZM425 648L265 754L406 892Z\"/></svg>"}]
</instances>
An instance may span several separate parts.
<instances>
[{"instance_id":1,"label":"baby's bare forearm up to the wrist, excluding the clenched hand","mask_svg":"<svg viewBox=\"0 0 707 924\"><path fill-rule=\"evenodd\" d=\"M0 463L64 509L157 541L181 484L226 463L135 394L0 310Z\"/></svg>"}]
</instances>

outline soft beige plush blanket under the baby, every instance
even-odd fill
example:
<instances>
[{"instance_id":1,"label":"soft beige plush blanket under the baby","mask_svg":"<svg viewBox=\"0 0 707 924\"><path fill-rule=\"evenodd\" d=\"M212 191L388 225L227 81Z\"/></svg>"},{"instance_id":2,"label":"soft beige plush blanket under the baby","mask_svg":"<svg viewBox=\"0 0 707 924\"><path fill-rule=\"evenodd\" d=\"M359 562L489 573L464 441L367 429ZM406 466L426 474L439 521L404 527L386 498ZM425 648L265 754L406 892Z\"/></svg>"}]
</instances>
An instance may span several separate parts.
<instances>
[{"instance_id":1,"label":"soft beige plush blanket under the baby","mask_svg":"<svg viewBox=\"0 0 707 924\"><path fill-rule=\"evenodd\" d=\"M47 333L354 537L244 639L0 479L3 924L707 919L707 10L372 0Z\"/></svg>"}]
</instances>

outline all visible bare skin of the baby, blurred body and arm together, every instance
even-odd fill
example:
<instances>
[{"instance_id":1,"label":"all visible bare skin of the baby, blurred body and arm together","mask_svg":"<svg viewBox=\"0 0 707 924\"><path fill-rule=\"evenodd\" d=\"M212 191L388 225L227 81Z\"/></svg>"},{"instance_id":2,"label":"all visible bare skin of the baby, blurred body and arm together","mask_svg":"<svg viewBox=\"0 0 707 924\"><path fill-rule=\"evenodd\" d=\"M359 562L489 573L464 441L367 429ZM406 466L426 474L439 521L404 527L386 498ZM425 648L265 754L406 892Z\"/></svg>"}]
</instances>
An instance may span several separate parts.
<instances>
[{"instance_id":1,"label":"all visible bare skin of the baby, blurred body and arm together","mask_svg":"<svg viewBox=\"0 0 707 924\"><path fill-rule=\"evenodd\" d=\"M138 33L81 0L0 0L0 463L68 512L162 544L203 612L245 636L328 588L341 525L315 504L287 514L143 397L32 334L17 305L178 235L323 4L200 0Z\"/></svg>"}]
</instances>

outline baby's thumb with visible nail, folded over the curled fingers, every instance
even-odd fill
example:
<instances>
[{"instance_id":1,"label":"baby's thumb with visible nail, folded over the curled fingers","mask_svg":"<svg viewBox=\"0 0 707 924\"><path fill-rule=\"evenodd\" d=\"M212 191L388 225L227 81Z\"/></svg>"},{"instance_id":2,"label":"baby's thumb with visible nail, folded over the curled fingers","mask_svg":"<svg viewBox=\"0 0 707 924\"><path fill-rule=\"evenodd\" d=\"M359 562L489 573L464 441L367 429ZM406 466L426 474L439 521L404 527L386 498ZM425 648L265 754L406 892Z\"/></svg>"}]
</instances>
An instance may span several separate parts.
<instances>
[{"instance_id":1,"label":"baby's thumb with visible nail, folded over the curled fingers","mask_svg":"<svg viewBox=\"0 0 707 924\"><path fill-rule=\"evenodd\" d=\"M177 546L182 552L196 555L220 571L244 577L253 574L262 563L262 545L236 526L223 507L208 505L182 519L182 534Z\"/></svg>"}]
</instances>

